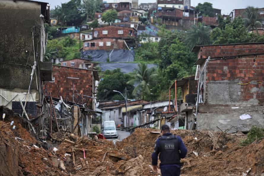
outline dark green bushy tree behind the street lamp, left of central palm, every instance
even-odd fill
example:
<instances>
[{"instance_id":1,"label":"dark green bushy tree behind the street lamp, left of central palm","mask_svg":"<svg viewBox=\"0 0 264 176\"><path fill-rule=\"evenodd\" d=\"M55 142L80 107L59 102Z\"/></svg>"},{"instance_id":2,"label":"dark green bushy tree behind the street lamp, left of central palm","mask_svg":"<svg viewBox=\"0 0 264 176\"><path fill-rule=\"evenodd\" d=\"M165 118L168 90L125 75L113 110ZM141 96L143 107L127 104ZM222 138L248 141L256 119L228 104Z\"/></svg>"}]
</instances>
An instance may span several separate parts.
<instances>
[{"instance_id":1,"label":"dark green bushy tree behind the street lamp, left of central palm","mask_svg":"<svg viewBox=\"0 0 264 176\"><path fill-rule=\"evenodd\" d=\"M113 71L105 71L103 80L98 85L97 96L99 100L124 100L124 98L117 92L117 90L125 93L125 87L127 87L128 98L133 98L132 91L133 85L127 85L126 83L131 79L131 76L124 74L120 69Z\"/></svg>"}]
</instances>

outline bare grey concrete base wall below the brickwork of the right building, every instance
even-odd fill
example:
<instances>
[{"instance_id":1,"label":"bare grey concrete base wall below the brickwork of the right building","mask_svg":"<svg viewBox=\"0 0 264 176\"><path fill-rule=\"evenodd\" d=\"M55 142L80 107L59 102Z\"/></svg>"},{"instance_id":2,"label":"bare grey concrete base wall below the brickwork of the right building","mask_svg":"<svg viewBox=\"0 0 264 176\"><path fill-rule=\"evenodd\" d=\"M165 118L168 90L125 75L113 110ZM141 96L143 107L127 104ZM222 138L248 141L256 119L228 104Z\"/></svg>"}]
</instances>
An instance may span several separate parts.
<instances>
[{"instance_id":1,"label":"bare grey concrete base wall below the brickwork of the right building","mask_svg":"<svg viewBox=\"0 0 264 176\"><path fill-rule=\"evenodd\" d=\"M241 120L240 116L248 114L251 119ZM223 131L234 127L229 132L248 131L252 126L264 128L263 106L199 106L196 117L197 129Z\"/></svg>"}]
</instances>

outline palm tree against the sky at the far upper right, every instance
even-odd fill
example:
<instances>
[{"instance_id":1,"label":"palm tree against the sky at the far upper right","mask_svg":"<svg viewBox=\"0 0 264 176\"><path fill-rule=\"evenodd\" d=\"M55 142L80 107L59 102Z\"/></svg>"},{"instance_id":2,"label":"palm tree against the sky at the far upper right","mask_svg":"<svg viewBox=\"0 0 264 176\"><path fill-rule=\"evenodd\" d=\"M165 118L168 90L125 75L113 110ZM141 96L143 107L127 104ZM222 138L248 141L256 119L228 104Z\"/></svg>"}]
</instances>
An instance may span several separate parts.
<instances>
[{"instance_id":1,"label":"palm tree against the sky at the far upper right","mask_svg":"<svg viewBox=\"0 0 264 176\"><path fill-rule=\"evenodd\" d=\"M252 29L252 32L254 31L254 29L257 29L257 27L261 27L261 23L258 21L258 16L259 16L258 8L249 6L246 8L244 15L246 16L245 18L243 18L245 20L245 26L248 29Z\"/></svg>"}]
</instances>

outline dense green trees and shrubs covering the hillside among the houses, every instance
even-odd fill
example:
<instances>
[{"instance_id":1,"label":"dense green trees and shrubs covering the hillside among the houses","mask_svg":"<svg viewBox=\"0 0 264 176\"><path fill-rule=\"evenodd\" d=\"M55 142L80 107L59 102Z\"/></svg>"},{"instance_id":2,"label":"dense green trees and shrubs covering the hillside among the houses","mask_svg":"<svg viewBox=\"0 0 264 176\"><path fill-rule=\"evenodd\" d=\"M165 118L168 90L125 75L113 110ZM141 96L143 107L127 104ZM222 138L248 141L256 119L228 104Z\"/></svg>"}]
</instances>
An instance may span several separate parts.
<instances>
[{"instance_id":1,"label":"dense green trees and shrubs covering the hillside among the houses","mask_svg":"<svg viewBox=\"0 0 264 176\"><path fill-rule=\"evenodd\" d=\"M79 25L94 20L94 13L101 12L99 0L71 0L68 3L57 6L51 11L61 25ZM72 6L72 7L70 7ZM91 10L92 9L92 10ZM199 15L215 17L212 4L205 2L195 7ZM235 18L233 22L223 19L218 14L218 27L211 29L209 26L198 23L192 26L187 32L169 31L162 25L160 19L154 23L159 28L158 36L162 39L157 42L140 44L135 51L135 63L139 63L138 69L133 73L124 74L119 69L114 71L100 72L102 78L98 87L99 100L123 100L123 97L112 90L125 94L127 88L128 98L144 100L166 100L168 99L168 88L175 79L193 76L195 73L195 61L197 56L191 52L195 45L205 44L230 44L243 42L263 42L264 36L252 33L260 26L258 21L258 10L248 7L246 18ZM78 16L78 19L76 19ZM108 10L103 13L102 20L108 23L114 22L117 17L115 10ZM98 21L90 23L90 27L96 28ZM56 27L46 26L48 33L47 52L45 59L64 58L66 60L79 58L79 41L63 37L54 39L57 33ZM146 38L141 35L138 41ZM147 68L146 64L155 63L157 68ZM179 91L180 92L180 91Z\"/></svg>"}]
</instances>

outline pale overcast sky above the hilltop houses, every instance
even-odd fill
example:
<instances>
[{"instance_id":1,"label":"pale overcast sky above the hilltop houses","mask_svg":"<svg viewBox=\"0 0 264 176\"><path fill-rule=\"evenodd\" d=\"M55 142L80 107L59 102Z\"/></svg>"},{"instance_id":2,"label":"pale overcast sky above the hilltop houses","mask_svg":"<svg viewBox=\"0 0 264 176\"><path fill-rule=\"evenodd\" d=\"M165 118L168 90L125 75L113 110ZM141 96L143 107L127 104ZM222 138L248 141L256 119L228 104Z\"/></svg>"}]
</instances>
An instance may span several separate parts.
<instances>
[{"instance_id":1,"label":"pale overcast sky above the hilltop houses","mask_svg":"<svg viewBox=\"0 0 264 176\"><path fill-rule=\"evenodd\" d=\"M53 9L61 3L68 2L69 0L38 0L50 3ZM140 3L156 2L155 0L139 0ZM198 3L210 2L214 8L222 9L222 14L228 15L233 9L242 9L247 6L254 6L263 8L264 0L191 0L191 6L196 6Z\"/></svg>"}]
</instances>

